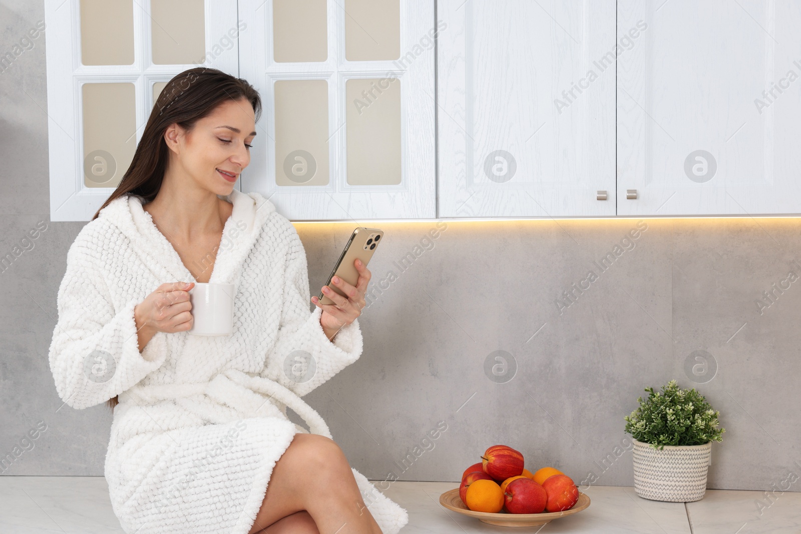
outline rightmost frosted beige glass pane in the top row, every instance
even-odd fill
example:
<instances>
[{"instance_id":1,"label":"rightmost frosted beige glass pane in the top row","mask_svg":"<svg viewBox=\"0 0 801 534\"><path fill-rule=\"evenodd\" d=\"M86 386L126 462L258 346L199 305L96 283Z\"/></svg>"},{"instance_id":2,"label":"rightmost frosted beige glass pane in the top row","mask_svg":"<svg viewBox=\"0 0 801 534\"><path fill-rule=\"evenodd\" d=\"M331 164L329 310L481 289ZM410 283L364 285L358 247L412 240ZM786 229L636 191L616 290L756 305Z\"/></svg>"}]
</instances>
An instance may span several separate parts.
<instances>
[{"instance_id":1,"label":"rightmost frosted beige glass pane in the top row","mask_svg":"<svg viewBox=\"0 0 801 534\"><path fill-rule=\"evenodd\" d=\"M400 58L400 0L345 1L345 58Z\"/></svg>"}]
</instances>

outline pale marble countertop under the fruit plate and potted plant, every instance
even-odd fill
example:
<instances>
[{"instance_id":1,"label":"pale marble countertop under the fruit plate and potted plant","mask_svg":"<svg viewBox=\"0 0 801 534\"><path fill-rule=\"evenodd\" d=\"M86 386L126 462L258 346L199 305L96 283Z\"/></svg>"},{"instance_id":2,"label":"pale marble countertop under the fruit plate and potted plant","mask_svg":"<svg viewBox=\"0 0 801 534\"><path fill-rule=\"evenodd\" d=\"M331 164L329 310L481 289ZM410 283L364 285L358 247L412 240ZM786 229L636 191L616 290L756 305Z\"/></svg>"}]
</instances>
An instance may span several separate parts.
<instances>
[{"instance_id":1,"label":"pale marble countertop under the fruit plate and potted plant","mask_svg":"<svg viewBox=\"0 0 801 534\"><path fill-rule=\"evenodd\" d=\"M455 482L392 483L385 494L409 511L401 534L532 532L537 534L799 534L801 493L706 490L694 503L642 499L634 488L594 486L592 504L542 527L505 528L442 508L442 492ZM762 503L761 506L758 503ZM761 513L760 513L761 512ZM0 532L4 534L122 533L102 476L0 477Z\"/></svg>"}]
</instances>

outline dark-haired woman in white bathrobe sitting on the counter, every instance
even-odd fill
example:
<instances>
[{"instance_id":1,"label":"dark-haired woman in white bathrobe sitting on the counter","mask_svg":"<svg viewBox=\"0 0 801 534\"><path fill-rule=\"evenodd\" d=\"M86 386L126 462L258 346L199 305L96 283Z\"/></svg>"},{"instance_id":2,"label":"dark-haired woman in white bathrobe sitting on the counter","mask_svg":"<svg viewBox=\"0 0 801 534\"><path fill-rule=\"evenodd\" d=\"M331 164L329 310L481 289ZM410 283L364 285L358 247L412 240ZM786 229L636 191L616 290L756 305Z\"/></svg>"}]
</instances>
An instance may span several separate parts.
<instances>
[{"instance_id":1,"label":"dark-haired woman in white bathrobe sitting on the counter","mask_svg":"<svg viewBox=\"0 0 801 534\"><path fill-rule=\"evenodd\" d=\"M131 167L67 254L49 356L58 395L114 410L105 475L125 532L398 532L405 510L300 399L359 358L370 271L356 264L356 287L333 282L348 298L324 287L334 304L315 297L309 312L295 228L234 189L260 112L256 90L219 70L165 86ZM236 284L233 334L187 333L196 282Z\"/></svg>"}]
</instances>

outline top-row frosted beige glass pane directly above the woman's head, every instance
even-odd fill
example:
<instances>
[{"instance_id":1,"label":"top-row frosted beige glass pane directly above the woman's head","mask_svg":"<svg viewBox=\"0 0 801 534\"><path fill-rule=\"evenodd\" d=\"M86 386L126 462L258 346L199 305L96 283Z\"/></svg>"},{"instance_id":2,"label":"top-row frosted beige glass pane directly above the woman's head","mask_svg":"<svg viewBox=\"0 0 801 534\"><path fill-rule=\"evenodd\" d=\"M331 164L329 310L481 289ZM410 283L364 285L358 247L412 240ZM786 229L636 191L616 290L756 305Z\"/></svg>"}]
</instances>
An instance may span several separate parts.
<instances>
[{"instance_id":1,"label":"top-row frosted beige glass pane directly above the woman's head","mask_svg":"<svg viewBox=\"0 0 801 534\"><path fill-rule=\"evenodd\" d=\"M201 64L205 61L203 0L154 0L151 2L151 18L155 65ZM225 50L236 46L228 35L218 38L222 44L215 46Z\"/></svg>"}]
</instances>

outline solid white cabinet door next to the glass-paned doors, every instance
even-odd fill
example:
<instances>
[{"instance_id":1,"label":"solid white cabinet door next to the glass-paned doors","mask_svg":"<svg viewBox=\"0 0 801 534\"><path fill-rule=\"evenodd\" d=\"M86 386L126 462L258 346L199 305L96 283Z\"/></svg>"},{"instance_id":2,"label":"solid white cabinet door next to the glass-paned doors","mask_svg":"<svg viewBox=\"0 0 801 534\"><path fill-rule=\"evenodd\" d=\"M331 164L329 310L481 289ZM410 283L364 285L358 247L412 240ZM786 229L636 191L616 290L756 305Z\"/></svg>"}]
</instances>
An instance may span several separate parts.
<instances>
[{"instance_id":1,"label":"solid white cabinet door next to the glass-paned doors","mask_svg":"<svg viewBox=\"0 0 801 534\"><path fill-rule=\"evenodd\" d=\"M438 0L439 216L615 215L615 17L614 0Z\"/></svg>"}]
</instances>

